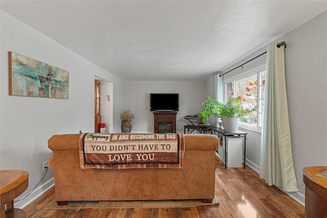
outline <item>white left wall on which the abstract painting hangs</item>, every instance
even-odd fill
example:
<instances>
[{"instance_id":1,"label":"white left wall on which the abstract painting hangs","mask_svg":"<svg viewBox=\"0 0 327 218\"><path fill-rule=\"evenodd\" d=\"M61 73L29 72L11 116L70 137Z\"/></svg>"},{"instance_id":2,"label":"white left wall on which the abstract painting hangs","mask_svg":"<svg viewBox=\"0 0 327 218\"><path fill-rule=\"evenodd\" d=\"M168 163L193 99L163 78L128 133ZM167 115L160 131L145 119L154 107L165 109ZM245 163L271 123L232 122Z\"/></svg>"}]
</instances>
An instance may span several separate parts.
<instances>
[{"instance_id":1,"label":"white left wall on which the abstract painting hangs","mask_svg":"<svg viewBox=\"0 0 327 218\"><path fill-rule=\"evenodd\" d=\"M78 133L79 130L94 132L95 76L114 83L113 100L121 98L124 92L121 80L6 12L0 12L0 168L22 169L30 174L29 187L20 196L24 197L43 176L42 162L52 155L47 143L52 135ZM68 70L69 99L10 96L8 51ZM49 171L41 188L15 206L25 205L52 185L52 178L53 172Z\"/></svg>"}]
</instances>

